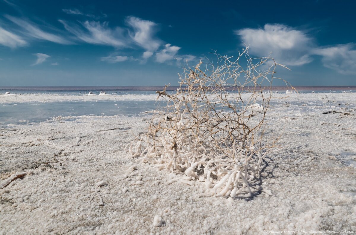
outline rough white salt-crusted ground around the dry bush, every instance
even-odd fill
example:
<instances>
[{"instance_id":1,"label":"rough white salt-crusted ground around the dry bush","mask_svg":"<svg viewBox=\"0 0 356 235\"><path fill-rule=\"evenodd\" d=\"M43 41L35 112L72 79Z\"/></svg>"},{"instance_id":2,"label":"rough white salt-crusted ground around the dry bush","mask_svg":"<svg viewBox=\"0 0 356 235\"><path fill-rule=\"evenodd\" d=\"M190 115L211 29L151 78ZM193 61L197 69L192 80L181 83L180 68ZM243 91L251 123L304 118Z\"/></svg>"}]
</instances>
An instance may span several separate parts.
<instances>
[{"instance_id":1,"label":"rough white salt-crusted ground around the dry bush","mask_svg":"<svg viewBox=\"0 0 356 235\"><path fill-rule=\"evenodd\" d=\"M356 230L356 93L275 102L266 135L282 134L285 148L267 157L263 190L250 200L206 197L204 182L126 156L131 130L147 127L142 117L61 117L1 129L0 182L27 175L0 189L0 234ZM322 114L333 110L341 113Z\"/></svg>"}]
</instances>

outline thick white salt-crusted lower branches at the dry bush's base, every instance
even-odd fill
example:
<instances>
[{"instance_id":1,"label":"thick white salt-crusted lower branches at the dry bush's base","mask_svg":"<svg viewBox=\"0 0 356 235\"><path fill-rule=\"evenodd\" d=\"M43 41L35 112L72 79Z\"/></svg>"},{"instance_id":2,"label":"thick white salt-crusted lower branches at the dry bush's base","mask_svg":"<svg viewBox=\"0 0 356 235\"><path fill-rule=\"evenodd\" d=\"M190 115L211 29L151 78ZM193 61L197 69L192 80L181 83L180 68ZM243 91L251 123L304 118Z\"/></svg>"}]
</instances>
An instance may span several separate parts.
<instances>
[{"instance_id":1,"label":"thick white salt-crusted lower branches at the dry bush's base","mask_svg":"<svg viewBox=\"0 0 356 235\"><path fill-rule=\"evenodd\" d=\"M154 140L152 135L142 135L138 142L126 146L127 151L132 157L138 157L137 160L140 162L158 164L160 170L167 169L171 172L178 170L184 173L187 180L181 180L181 182L188 185L194 185L197 179L200 182L205 181L207 193L211 191L212 196L255 195L255 191L251 190L249 184L256 182L259 178L259 168L267 151L262 154L260 150L249 147L250 150L255 149L255 151L246 155L241 150L244 146L238 145L234 148L236 153L240 153L238 155L240 160L236 163L232 158L226 158L225 152L208 146L210 141L189 137L184 133L176 135L176 139L184 144L179 144L180 147L174 150L171 148L172 141L169 141L170 135L171 133L166 131L161 136L156 136ZM153 142L160 143L160 145L153 146ZM209 156L204 152L206 149L209 149ZM235 157L237 157L236 154ZM169 183L172 182L169 181Z\"/></svg>"}]
</instances>

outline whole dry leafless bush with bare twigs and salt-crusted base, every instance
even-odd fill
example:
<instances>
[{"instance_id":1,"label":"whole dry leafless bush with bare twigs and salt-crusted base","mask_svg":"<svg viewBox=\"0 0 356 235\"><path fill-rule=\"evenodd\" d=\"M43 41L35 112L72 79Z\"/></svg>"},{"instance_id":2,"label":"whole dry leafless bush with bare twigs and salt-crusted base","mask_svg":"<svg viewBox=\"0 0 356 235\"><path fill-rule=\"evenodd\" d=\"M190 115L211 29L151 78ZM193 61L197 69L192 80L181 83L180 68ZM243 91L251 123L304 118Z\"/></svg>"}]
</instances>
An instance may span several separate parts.
<instances>
[{"instance_id":1,"label":"whole dry leafless bush with bare twigs and salt-crusted base","mask_svg":"<svg viewBox=\"0 0 356 235\"><path fill-rule=\"evenodd\" d=\"M157 91L167 105L127 149L142 162L204 181L216 196L248 197L261 189L253 182L274 143L263 138L261 127L272 81L280 79L274 77L279 64L269 57L251 58L248 48L236 59L215 55L218 63L207 63L204 71L200 61L178 74L176 92L166 91L167 86Z\"/></svg>"}]
</instances>

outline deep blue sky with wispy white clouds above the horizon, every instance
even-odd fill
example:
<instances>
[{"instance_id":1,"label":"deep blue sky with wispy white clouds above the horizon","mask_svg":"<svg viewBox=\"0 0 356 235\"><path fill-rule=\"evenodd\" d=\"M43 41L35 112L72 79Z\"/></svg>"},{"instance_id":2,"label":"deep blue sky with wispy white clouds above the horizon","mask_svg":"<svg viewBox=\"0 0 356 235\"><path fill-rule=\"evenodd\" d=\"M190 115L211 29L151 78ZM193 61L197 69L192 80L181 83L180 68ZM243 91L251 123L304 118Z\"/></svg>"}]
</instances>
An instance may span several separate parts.
<instances>
[{"instance_id":1,"label":"deep blue sky with wispy white clouds above the horizon","mask_svg":"<svg viewBox=\"0 0 356 235\"><path fill-rule=\"evenodd\" d=\"M178 84L211 49L292 85L356 85L354 1L0 0L0 86ZM280 84L275 84L280 85Z\"/></svg>"}]
</instances>

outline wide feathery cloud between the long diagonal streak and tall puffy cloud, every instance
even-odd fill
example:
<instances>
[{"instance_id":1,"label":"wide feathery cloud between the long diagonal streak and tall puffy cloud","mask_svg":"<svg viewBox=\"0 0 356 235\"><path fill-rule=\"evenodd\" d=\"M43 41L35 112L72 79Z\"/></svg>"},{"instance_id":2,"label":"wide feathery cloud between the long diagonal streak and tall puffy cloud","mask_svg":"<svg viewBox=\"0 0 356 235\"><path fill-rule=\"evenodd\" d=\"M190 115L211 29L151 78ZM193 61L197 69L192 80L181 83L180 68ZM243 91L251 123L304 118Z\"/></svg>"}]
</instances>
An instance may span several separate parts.
<instances>
[{"instance_id":1,"label":"wide feathery cloud between the long diagonal streak and tall puffy cloud","mask_svg":"<svg viewBox=\"0 0 356 235\"><path fill-rule=\"evenodd\" d=\"M111 30L108 27L108 22L96 22L96 21L85 21L82 23L82 27L78 25L68 25L67 22L59 20L66 30L73 33L80 40L99 45L107 45L112 47L127 47L127 39L123 35L123 30L119 27L116 27L114 30Z\"/></svg>"}]
</instances>

